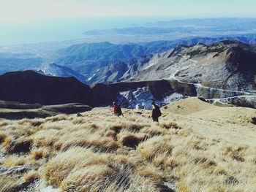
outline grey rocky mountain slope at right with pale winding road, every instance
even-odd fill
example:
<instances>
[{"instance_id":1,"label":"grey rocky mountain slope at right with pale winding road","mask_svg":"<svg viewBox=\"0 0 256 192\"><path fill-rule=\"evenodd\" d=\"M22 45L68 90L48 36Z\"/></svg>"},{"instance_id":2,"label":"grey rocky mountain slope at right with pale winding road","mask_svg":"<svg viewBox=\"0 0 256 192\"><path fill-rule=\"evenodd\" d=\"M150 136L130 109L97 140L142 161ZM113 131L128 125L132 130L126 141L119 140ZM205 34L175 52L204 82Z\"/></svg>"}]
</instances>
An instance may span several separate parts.
<instances>
[{"instance_id":1,"label":"grey rocky mountain slope at right with pale winding road","mask_svg":"<svg viewBox=\"0 0 256 192\"><path fill-rule=\"evenodd\" d=\"M224 41L178 46L154 55L130 80L177 79L212 88L255 92L256 47Z\"/></svg>"}]
</instances>

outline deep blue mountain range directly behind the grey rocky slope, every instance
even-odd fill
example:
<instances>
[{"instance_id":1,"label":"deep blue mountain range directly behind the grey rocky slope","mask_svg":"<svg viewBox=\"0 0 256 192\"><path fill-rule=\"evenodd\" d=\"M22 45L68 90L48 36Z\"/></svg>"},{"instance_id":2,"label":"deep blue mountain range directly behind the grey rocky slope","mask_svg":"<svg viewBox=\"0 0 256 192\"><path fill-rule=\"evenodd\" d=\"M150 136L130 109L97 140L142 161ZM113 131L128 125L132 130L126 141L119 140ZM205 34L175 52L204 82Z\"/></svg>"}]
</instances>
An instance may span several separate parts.
<instances>
[{"instance_id":1,"label":"deep blue mountain range directly behind the grey rocky slope","mask_svg":"<svg viewBox=\"0 0 256 192\"><path fill-rule=\"evenodd\" d=\"M248 44L256 43L256 35L244 35L241 37L194 37L188 39L178 39L176 41L157 41L143 42L138 44L115 45L110 42L100 43L83 43L72 45L65 49L59 50L59 58L54 63L60 66L67 66L76 72L87 77L87 83L108 82L113 78L102 78L97 80L99 69L108 70L116 64L127 64L137 62L136 58L151 58L152 54L163 53L178 45L197 45L203 43L211 45L214 42L223 40L236 40ZM92 78L94 77L94 78ZM93 79L93 80L92 80Z\"/></svg>"}]
</instances>

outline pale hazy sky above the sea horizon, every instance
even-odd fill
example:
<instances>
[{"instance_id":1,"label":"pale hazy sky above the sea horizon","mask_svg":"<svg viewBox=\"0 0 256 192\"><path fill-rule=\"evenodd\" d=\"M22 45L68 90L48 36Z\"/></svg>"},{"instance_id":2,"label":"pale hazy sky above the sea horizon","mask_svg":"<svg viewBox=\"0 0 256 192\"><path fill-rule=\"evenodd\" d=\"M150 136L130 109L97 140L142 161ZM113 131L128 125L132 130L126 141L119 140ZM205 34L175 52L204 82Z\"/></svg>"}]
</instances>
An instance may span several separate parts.
<instances>
[{"instance_id":1,"label":"pale hazy sky above the sea horizon","mask_svg":"<svg viewBox=\"0 0 256 192\"><path fill-rule=\"evenodd\" d=\"M0 22L84 17L256 18L255 0L0 0Z\"/></svg>"}]
</instances>

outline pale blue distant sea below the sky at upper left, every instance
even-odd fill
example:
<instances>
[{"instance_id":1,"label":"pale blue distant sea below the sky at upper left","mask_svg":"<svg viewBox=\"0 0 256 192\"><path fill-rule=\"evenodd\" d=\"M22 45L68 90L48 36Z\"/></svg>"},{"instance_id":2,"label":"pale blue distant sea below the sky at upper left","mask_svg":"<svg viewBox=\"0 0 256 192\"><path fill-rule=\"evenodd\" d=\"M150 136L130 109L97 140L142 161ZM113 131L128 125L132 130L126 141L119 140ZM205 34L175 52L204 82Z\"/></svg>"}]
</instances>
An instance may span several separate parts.
<instances>
[{"instance_id":1,"label":"pale blue distant sea below the sky at upper left","mask_svg":"<svg viewBox=\"0 0 256 192\"><path fill-rule=\"evenodd\" d=\"M0 23L0 46L83 39L92 29L138 26L166 18L72 18L37 22Z\"/></svg>"}]
</instances>

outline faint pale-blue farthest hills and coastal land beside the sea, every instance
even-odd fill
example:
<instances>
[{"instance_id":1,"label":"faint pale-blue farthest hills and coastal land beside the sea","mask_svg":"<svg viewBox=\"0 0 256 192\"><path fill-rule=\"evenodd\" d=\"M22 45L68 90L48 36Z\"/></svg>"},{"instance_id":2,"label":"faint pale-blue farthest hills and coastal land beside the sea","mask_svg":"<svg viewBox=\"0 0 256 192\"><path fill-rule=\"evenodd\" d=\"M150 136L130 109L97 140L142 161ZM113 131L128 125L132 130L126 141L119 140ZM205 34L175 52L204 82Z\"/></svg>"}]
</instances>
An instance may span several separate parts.
<instances>
[{"instance_id":1,"label":"faint pale-blue farthest hills and coastal land beside the sea","mask_svg":"<svg viewBox=\"0 0 256 192\"><path fill-rule=\"evenodd\" d=\"M206 18L184 20L160 20L119 28L85 31L86 39L94 42L138 43L176 41L193 37L227 37L255 34L255 18Z\"/></svg>"}]
</instances>

